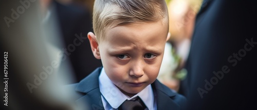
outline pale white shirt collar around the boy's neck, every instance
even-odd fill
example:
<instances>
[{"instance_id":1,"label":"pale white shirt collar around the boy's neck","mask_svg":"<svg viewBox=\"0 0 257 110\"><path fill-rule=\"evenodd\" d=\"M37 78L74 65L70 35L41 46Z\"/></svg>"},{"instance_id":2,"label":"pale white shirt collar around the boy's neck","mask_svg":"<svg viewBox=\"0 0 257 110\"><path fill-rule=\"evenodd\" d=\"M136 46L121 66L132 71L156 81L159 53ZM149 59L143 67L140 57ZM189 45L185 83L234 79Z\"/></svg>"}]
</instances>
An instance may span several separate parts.
<instances>
[{"instance_id":1,"label":"pale white shirt collar around the boy's neck","mask_svg":"<svg viewBox=\"0 0 257 110\"><path fill-rule=\"evenodd\" d=\"M139 96L148 109L153 109L154 105L154 93L152 91L152 86L148 85L141 92L133 97L128 97L124 95L108 78L104 68L99 76L99 87L100 92L105 98L105 100L113 107L118 108L125 100L133 100L135 97Z\"/></svg>"}]
</instances>

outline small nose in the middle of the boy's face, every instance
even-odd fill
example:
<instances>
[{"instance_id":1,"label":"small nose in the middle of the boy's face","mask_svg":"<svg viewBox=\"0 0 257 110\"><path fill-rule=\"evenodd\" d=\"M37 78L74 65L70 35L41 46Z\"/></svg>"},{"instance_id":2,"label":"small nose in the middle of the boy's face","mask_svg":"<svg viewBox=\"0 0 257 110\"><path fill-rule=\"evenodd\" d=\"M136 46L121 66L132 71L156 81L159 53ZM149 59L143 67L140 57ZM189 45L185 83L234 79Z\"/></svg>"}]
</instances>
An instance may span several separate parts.
<instances>
[{"instance_id":1,"label":"small nose in the middle of the boy's face","mask_svg":"<svg viewBox=\"0 0 257 110\"><path fill-rule=\"evenodd\" d=\"M143 71L143 63L138 61L137 63L132 64L132 68L130 70L130 75L134 77L141 77L144 75Z\"/></svg>"}]
</instances>

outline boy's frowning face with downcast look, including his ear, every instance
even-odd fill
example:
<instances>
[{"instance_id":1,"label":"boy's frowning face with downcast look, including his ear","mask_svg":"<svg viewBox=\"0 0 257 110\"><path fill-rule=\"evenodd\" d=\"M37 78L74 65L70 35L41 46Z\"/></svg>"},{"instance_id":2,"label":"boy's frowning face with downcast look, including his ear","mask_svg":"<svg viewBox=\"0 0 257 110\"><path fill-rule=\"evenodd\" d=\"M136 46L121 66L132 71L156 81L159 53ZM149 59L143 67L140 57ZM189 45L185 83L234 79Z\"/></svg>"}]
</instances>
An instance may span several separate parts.
<instances>
[{"instance_id":1,"label":"boy's frowning face with downcast look, including his ear","mask_svg":"<svg viewBox=\"0 0 257 110\"><path fill-rule=\"evenodd\" d=\"M132 97L156 80L168 25L158 21L117 26L106 31L99 46L94 45L96 36L90 34L95 57L101 58L107 76L122 93Z\"/></svg>"}]
</instances>

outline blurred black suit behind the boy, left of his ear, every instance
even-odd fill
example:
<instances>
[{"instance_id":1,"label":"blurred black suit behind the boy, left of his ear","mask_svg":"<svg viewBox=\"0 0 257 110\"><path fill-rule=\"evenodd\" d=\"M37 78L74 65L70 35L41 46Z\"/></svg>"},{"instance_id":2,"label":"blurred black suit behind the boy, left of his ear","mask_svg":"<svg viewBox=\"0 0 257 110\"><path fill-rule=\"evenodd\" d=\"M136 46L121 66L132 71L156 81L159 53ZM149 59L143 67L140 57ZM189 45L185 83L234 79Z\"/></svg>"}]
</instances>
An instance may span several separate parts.
<instances>
[{"instance_id":1,"label":"blurred black suit behind the boy, left of his ear","mask_svg":"<svg viewBox=\"0 0 257 110\"><path fill-rule=\"evenodd\" d=\"M85 8L78 5L62 5L56 1L53 1L52 5L56 9L60 34L64 40L63 48L68 51L67 59L76 76L76 82L79 82L102 65L101 60L94 57L87 39L87 33L93 32L91 15ZM74 40L78 39L75 34L82 37L76 41L80 45L75 46L75 51L69 51L68 48L72 50L69 45L74 45Z\"/></svg>"}]
</instances>

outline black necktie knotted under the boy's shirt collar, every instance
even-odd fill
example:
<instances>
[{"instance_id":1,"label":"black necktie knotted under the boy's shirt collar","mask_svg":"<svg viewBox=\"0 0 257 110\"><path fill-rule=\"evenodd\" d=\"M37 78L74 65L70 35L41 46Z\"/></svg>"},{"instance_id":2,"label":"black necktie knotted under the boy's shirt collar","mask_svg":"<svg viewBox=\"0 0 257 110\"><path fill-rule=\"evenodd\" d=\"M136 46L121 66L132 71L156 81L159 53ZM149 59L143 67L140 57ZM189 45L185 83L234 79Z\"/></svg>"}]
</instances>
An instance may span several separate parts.
<instances>
[{"instance_id":1,"label":"black necktie knotted under the boy's shirt collar","mask_svg":"<svg viewBox=\"0 0 257 110\"><path fill-rule=\"evenodd\" d=\"M136 100L125 100L119 107L119 110L144 110L146 108L143 101L137 96Z\"/></svg>"}]
</instances>

